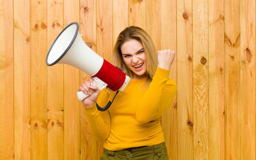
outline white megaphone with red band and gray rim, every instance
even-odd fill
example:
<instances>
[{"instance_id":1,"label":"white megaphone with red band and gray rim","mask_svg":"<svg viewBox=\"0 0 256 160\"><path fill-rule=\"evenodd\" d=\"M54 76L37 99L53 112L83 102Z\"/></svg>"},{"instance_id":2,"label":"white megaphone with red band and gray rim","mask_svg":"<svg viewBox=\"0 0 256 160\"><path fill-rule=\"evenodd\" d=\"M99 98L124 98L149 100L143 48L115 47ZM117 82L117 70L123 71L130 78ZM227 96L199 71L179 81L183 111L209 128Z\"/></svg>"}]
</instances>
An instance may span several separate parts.
<instances>
[{"instance_id":1,"label":"white megaphone with red band and gray rim","mask_svg":"<svg viewBox=\"0 0 256 160\"><path fill-rule=\"evenodd\" d=\"M67 25L48 51L47 66L57 63L68 64L87 73L100 90L108 87L112 91L123 91L130 82L130 77L124 71L110 64L83 42L77 22ZM77 92L79 100L88 96L82 91Z\"/></svg>"}]
</instances>

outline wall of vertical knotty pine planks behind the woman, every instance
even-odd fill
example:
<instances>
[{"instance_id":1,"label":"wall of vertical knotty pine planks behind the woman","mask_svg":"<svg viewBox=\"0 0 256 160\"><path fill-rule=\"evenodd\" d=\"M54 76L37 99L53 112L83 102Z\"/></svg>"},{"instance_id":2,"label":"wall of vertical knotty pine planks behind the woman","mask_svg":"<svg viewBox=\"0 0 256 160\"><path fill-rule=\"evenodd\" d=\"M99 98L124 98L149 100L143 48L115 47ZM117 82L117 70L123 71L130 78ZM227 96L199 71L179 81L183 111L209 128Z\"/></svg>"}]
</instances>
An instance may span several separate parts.
<instances>
[{"instance_id":1,"label":"wall of vertical knotty pine planks behind the woman","mask_svg":"<svg viewBox=\"0 0 256 160\"><path fill-rule=\"evenodd\" d=\"M110 60L130 25L173 49L177 95L162 116L171 160L256 160L255 0L0 0L0 159L99 160L76 91L88 75L45 58L79 22Z\"/></svg>"}]
</instances>

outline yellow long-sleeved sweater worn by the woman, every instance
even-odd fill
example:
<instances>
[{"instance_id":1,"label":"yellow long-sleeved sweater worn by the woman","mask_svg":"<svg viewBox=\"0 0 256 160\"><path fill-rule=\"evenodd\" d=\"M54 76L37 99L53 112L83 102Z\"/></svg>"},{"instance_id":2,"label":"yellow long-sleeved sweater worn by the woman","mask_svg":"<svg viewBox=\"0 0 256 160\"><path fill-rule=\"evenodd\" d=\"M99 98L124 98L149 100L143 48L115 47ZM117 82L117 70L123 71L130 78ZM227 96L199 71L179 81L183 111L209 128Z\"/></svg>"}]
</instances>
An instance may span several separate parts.
<instances>
[{"instance_id":1,"label":"yellow long-sleeved sweater worn by the woman","mask_svg":"<svg viewBox=\"0 0 256 160\"><path fill-rule=\"evenodd\" d=\"M147 89L140 89L146 78L132 79L107 111L98 111L96 104L83 107L92 135L104 141L104 148L117 151L164 142L159 118L170 107L177 91L169 73L157 67ZM115 93L103 89L97 99L99 106L105 107Z\"/></svg>"}]
</instances>

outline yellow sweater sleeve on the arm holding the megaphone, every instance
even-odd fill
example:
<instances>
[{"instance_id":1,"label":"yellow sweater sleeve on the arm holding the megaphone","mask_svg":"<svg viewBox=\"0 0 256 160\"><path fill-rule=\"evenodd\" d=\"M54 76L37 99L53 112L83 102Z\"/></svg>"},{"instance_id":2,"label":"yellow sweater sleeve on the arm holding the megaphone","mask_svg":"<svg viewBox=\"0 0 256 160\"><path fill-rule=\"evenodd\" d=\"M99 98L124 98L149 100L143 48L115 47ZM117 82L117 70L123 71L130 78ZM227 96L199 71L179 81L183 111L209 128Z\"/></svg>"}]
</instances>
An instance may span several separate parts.
<instances>
[{"instance_id":1,"label":"yellow sweater sleeve on the arm holding the megaphone","mask_svg":"<svg viewBox=\"0 0 256 160\"><path fill-rule=\"evenodd\" d=\"M97 99L97 103L101 106L107 100L108 94L103 89ZM105 141L110 133L110 114L108 110L104 112L98 111L96 103L91 107L83 107L83 110L94 138L99 142Z\"/></svg>"}]
</instances>

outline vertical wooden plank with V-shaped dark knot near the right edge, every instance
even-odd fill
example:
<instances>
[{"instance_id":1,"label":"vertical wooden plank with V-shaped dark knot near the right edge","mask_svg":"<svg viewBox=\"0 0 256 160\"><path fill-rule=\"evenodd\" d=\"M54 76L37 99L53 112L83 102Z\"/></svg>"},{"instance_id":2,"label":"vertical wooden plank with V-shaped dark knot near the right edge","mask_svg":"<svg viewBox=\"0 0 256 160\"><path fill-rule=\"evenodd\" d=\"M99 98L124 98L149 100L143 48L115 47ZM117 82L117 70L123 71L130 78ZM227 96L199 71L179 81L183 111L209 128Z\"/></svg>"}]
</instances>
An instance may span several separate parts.
<instances>
[{"instance_id":1,"label":"vertical wooden plank with V-shaped dark knot near the right edge","mask_svg":"<svg viewBox=\"0 0 256 160\"><path fill-rule=\"evenodd\" d=\"M225 159L240 159L238 93L240 84L239 1L224 1L225 17Z\"/></svg>"}]
</instances>

